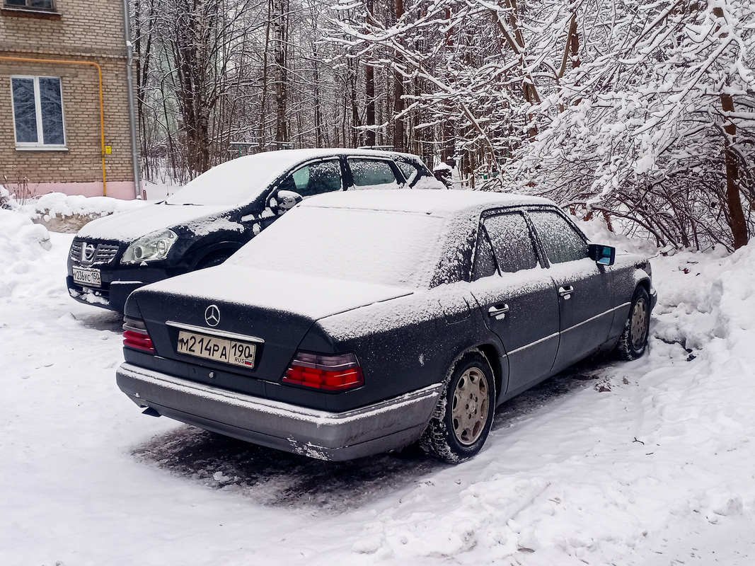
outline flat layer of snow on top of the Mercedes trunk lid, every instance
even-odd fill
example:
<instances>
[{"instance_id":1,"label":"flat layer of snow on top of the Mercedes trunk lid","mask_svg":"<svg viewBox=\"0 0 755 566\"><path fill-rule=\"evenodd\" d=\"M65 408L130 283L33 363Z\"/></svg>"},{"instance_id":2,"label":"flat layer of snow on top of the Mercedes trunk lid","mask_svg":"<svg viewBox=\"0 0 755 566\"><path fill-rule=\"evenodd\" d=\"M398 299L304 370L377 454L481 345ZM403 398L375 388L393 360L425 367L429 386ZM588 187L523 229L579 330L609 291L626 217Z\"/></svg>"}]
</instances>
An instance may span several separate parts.
<instances>
[{"instance_id":1,"label":"flat layer of snow on top of the Mercedes trunk lid","mask_svg":"<svg viewBox=\"0 0 755 566\"><path fill-rule=\"evenodd\" d=\"M250 306L294 312L312 320L403 297L415 291L408 287L227 265L186 273L142 289L201 300L237 303L239 308ZM137 303L140 303L138 299Z\"/></svg>"}]
</instances>

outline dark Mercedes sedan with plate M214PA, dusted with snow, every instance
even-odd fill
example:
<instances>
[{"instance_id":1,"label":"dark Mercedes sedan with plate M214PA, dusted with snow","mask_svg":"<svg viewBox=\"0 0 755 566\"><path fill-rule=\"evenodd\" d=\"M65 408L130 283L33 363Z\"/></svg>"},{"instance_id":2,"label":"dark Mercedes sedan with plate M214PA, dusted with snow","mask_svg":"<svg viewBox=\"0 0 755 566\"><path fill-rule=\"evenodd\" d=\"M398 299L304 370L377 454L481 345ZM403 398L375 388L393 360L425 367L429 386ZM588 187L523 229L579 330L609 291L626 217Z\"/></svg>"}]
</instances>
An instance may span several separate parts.
<instances>
[{"instance_id":1,"label":"dark Mercedes sedan with plate M214PA, dusted with snow","mask_svg":"<svg viewBox=\"0 0 755 566\"><path fill-rule=\"evenodd\" d=\"M137 289L119 387L147 414L325 460L476 454L495 407L599 349L646 349L645 257L544 198L303 201L223 265Z\"/></svg>"}]
</instances>

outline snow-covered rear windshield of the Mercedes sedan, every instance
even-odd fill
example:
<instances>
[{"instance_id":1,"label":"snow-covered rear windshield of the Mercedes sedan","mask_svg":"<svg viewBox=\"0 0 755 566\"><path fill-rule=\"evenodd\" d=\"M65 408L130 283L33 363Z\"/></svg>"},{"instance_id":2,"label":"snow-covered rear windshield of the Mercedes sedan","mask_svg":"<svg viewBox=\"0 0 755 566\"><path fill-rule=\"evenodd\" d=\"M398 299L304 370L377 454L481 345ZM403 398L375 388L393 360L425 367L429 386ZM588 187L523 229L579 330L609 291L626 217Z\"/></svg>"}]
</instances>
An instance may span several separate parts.
<instances>
[{"instance_id":1,"label":"snow-covered rear windshield of the Mercedes sedan","mask_svg":"<svg viewBox=\"0 0 755 566\"><path fill-rule=\"evenodd\" d=\"M429 214L294 208L226 263L380 285L429 287L445 219Z\"/></svg>"}]
</instances>

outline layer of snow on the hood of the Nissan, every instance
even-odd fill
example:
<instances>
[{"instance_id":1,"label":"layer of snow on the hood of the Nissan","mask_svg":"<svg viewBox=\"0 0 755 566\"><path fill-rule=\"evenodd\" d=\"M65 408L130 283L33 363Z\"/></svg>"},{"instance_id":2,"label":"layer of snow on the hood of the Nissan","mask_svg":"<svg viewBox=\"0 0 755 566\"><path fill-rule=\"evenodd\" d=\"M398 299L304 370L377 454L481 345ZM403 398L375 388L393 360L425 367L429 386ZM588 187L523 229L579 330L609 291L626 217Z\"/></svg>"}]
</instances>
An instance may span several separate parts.
<instances>
[{"instance_id":1,"label":"layer of snow on the hood of the Nissan","mask_svg":"<svg viewBox=\"0 0 755 566\"><path fill-rule=\"evenodd\" d=\"M80 238L134 241L157 230L178 224L196 223L227 211L222 206L147 205L135 211L112 214L93 220L79 230Z\"/></svg>"}]
</instances>

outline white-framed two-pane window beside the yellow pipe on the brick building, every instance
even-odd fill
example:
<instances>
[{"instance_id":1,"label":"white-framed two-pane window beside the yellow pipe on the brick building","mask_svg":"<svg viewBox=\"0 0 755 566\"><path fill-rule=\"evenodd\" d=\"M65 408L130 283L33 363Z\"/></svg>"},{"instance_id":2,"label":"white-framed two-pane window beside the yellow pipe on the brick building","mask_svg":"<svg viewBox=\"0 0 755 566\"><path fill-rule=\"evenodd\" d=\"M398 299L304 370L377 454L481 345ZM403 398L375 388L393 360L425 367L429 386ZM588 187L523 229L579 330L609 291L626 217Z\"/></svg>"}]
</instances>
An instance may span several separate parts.
<instances>
[{"instance_id":1,"label":"white-framed two-pane window beside the yellow pipe on the brick building","mask_svg":"<svg viewBox=\"0 0 755 566\"><path fill-rule=\"evenodd\" d=\"M66 149L60 78L14 76L11 90L16 149Z\"/></svg>"}]
</instances>

